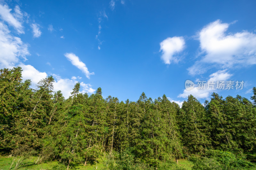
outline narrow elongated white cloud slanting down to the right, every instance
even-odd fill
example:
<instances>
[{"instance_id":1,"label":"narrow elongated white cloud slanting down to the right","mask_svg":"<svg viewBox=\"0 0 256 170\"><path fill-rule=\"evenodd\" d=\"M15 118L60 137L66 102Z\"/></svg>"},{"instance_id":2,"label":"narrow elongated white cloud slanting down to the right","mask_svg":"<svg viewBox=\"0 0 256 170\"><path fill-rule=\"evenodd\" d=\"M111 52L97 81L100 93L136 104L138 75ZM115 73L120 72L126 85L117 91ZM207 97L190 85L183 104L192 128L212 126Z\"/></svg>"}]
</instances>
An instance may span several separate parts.
<instances>
[{"instance_id":1,"label":"narrow elongated white cloud slanting down to the right","mask_svg":"<svg viewBox=\"0 0 256 170\"><path fill-rule=\"evenodd\" d=\"M74 65L76 66L78 69L82 70L85 74L85 76L87 78L90 78L90 75L94 75L94 72L90 73L88 71L88 68L86 67L86 65L79 59L78 56L76 56L73 53L66 53L64 54L68 60Z\"/></svg>"}]
</instances>

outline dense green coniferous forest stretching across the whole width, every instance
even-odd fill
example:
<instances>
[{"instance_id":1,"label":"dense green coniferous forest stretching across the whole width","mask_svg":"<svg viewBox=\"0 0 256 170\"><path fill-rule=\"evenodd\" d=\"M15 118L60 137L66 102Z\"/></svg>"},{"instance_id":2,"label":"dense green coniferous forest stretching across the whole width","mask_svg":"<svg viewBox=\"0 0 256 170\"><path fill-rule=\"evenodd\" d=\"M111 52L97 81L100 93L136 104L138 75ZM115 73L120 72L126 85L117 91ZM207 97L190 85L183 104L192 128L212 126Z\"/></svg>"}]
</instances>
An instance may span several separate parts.
<instances>
[{"instance_id":1,"label":"dense green coniferous forest stretching across the whole width","mask_svg":"<svg viewBox=\"0 0 256 170\"><path fill-rule=\"evenodd\" d=\"M18 169L58 161L65 169L97 163L105 169L250 169L256 162L256 88L251 99L212 93L200 103L192 95L180 108L165 95L137 101L90 96L77 83L70 97L53 92L54 78L36 89L22 68L0 70L0 148ZM104 90L104 89L103 89Z\"/></svg>"}]
</instances>

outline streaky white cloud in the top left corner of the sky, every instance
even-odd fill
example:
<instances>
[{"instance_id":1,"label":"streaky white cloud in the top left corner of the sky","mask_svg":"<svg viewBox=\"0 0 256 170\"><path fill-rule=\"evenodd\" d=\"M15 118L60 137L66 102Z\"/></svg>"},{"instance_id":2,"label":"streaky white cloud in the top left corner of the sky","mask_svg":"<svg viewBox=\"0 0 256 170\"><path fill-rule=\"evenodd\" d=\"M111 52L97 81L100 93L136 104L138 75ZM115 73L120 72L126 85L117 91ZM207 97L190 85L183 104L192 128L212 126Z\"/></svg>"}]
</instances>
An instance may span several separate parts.
<instances>
[{"instance_id":1,"label":"streaky white cloud in the top left corner of the sky","mask_svg":"<svg viewBox=\"0 0 256 170\"><path fill-rule=\"evenodd\" d=\"M0 16L7 22L10 26L13 26L18 33L24 33L22 26L23 14L20 11L20 7L16 6L13 14L11 14L12 9L9 9L8 5L0 4Z\"/></svg>"}]
</instances>

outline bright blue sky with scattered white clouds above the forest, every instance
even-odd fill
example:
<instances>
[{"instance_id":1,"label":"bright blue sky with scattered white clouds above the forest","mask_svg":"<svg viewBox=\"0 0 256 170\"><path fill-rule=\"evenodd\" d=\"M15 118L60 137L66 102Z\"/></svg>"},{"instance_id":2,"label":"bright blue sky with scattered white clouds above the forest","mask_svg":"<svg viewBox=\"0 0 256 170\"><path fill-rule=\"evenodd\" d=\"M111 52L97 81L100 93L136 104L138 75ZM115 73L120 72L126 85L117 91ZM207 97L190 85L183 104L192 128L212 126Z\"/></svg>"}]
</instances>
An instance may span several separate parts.
<instances>
[{"instance_id":1,"label":"bright blue sky with scattered white clouds above the forest","mask_svg":"<svg viewBox=\"0 0 256 170\"><path fill-rule=\"evenodd\" d=\"M67 98L136 101L166 94L179 104L213 91L250 98L256 86L256 1L3 1L0 66L21 66L32 87L46 76ZM185 89L185 81L244 81L243 89ZM207 86L207 84L206 84ZM235 85L234 85L235 86Z\"/></svg>"}]
</instances>

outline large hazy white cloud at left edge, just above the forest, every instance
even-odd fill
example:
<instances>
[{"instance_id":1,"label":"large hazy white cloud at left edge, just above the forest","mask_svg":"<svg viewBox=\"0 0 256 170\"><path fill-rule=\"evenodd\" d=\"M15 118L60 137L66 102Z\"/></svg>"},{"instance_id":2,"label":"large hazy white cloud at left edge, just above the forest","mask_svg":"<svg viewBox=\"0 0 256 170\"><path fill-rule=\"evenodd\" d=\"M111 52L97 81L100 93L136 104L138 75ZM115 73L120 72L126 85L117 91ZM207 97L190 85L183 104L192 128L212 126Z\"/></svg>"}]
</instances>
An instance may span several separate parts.
<instances>
[{"instance_id":1,"label":"large hazy white cloud at left edge, just above the forest","mask_svg":"<svg viewBox=\"0 0 256 170\"><path fill-rule=\"evenodd\" d=\"M8 27L0 22L0 66L12 68L20 58L26 59L28 44L24 44L19 37L11 34Z\"/></svg>"}]
</instances>

